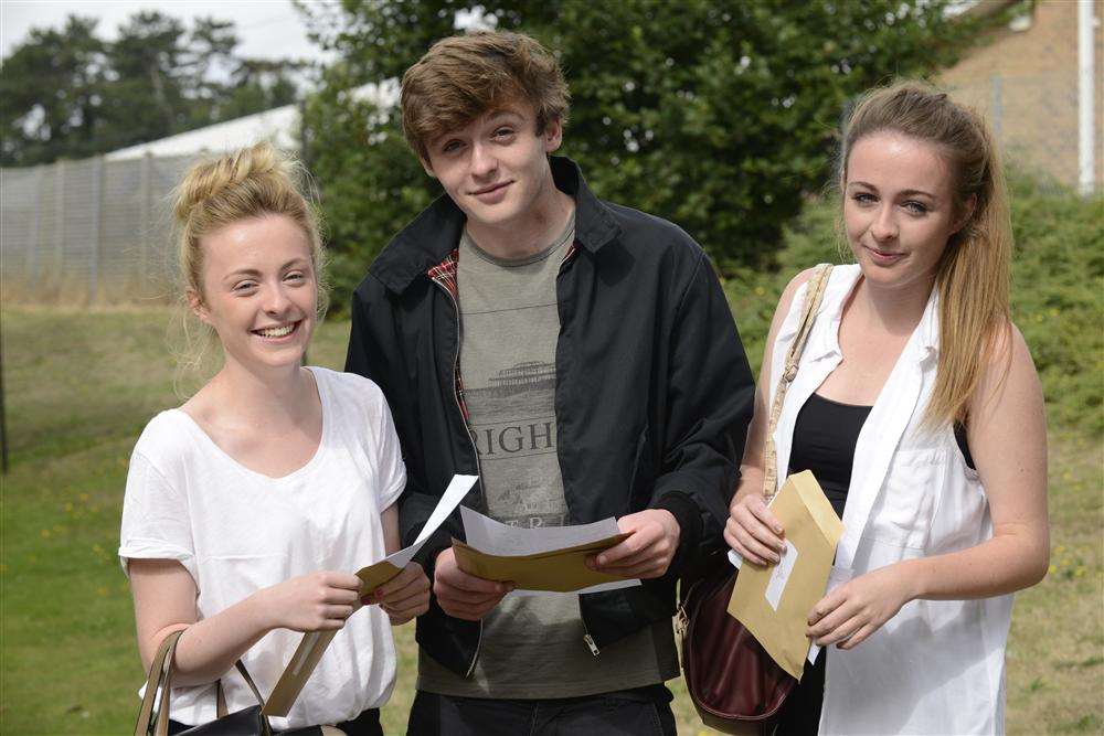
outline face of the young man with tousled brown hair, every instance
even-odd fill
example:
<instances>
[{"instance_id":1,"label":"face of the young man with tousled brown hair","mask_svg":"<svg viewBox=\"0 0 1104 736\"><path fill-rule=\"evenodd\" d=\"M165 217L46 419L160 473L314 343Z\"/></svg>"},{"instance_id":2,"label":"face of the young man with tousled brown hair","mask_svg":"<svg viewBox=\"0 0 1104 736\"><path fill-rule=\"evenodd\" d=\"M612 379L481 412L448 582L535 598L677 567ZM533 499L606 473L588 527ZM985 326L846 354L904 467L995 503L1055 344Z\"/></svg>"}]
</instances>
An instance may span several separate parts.
<instances>
[{"instance_id":1,"label":"face of the young man with tousled brown hair","mask_svg":"<svg viewBox=\"0 0 1104 736\"><path fill-rule=\"evenodd\" d=\"M553 201L548 154L561 139L559 120L538 134L532 106L512 103L429 141L423 163L467 215L473 234L508 233L539 218Z\"/></svg>"}]
</instances>

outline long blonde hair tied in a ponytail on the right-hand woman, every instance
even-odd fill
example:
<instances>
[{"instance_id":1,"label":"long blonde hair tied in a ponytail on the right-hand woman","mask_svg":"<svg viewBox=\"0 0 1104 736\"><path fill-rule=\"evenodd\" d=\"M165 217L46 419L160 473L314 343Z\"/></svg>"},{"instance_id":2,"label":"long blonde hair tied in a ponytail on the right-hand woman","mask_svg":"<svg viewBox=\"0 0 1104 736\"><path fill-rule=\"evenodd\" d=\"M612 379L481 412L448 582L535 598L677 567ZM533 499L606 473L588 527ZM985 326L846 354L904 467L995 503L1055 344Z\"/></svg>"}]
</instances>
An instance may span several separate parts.
<instances>
[{"instance_id":1,"label":"long blonde hair tied in a ponytail on the right-hand woman","mask_svg":"<svg viewBox=\"0 0 1104 736\"><path fill-rule=\"evenodd\" d=\"M1007 338L1012 227L997 147L985 119L945 93L914 81L867 93L843 127L841 188L856 142L899 132L938 147L953 177L956 216L974 210L947 242L936 268L940 363L924 413L930 426L966 423L969 404L1001 340Z\"/></svg>"}]
</instances>

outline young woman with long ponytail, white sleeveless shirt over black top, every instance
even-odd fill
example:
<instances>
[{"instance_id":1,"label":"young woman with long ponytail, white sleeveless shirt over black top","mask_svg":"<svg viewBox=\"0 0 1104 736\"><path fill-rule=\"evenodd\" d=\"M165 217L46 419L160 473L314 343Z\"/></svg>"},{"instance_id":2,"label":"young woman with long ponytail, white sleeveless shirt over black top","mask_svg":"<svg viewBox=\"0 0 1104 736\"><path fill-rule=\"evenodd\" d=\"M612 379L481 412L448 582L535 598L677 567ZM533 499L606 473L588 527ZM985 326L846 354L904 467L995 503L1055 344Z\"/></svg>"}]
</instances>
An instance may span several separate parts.
<instances>
[{"instance_id":1,"label":"young woman with long ponytail, white sleeveless shirt over black top","mask_svg":"<svg viewBox=\"0 0 1104 736\"><path fill-rule=\"evenodd\" d=\"M1002 733L1011 594L1043 577L1049 540L997 151L976 114L899 83L851 113L839 184L856 263L832 269L774 442L778 477L813 470L846 531L809 611L825 649L778 733ZM725 529L752 564L784 550L760 494L766 407L810 273L775 312Z\"/></svg>"}]
</instances>

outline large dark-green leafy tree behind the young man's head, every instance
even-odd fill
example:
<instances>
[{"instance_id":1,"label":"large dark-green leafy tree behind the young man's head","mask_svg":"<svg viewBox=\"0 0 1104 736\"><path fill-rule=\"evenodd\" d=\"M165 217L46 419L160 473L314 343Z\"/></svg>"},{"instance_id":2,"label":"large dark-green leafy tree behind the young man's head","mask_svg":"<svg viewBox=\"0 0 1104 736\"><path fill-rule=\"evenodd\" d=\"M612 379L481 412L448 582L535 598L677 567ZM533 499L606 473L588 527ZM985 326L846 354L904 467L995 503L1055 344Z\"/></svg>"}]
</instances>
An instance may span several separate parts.
<instances>
[{"instance_id":1,"label":"large dark-green leafy tree behind the young man's head","mask_svg":"<svg viewBox=\"0 0 1104 736\"><path fill-rule=\"evenodd\" d=\"M968 47L981 21L953 18L948 4L304 4L316 40L339 57L306 121L336 260L362 273L439 191L413 156L399 154L395 111L346 90L399 78L434 41L457 32L460 13L530 33L556 52L572 93L563 151L601 196L678 223L734 269L771 264L784 223L822 188L849 99L894 75L931 75Z\"/></svg>"}]
</instances>

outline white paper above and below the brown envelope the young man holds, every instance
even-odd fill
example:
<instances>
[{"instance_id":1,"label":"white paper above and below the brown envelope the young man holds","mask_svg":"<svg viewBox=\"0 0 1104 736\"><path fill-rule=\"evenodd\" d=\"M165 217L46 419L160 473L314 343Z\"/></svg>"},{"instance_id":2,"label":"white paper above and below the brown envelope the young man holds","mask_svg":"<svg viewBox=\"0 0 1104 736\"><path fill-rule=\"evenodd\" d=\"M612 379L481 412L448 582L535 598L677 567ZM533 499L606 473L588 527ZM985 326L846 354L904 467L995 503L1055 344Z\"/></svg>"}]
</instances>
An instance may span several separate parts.
<instances>
[{"instance_id":1,"label":"white paper above and below the brown envelope the young man holds","mask_svg":"<svg viewBox=\"0 0 1104 736\"><path fill-rule=\"evenodd\" d=\"M502 522L495 521L490 516L485 516L478 511L473 511L467 506L460 506L460 520L464 522L464 536L468 546L475 547L479 552L488 555L534 555L541 552L552 552L565 547L574 547L580 544L588 544L620 534L617 520L611 516L591 524L577 524L574 526L538 526L535 529L523 529L521 526L510 526ZM553 593L548 590L514 590L511 596L577 596L583 593L598 593L601 590L617 590L640 585L640 580L631 578L628 580L616 580L614 583L602 583L592 585L588 588L573 590L571 593Z\"/></svg>"}]
</instances>

